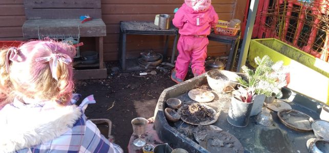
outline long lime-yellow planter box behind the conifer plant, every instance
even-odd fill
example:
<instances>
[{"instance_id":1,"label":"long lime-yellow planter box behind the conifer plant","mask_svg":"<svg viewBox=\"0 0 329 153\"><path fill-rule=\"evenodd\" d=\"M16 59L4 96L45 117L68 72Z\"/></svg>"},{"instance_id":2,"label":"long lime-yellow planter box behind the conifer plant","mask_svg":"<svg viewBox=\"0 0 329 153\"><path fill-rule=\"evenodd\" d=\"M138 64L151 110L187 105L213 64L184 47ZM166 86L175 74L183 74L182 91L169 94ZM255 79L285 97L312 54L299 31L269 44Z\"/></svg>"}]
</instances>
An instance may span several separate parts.
<instances>
[{"instance_id":1,"label":"long lime-yellow planter box behind the conifer plant","mask_svg":"<svg viewBox=\"0 0 329 153\"><path fill-rule=\"evenodd\" d=\"M276 62L282 60L290 67L288 88L329 104L329 63L274 38L253 39L248 60L256 67L255 57L269 55Z\"/></svg>"}]
</instances>

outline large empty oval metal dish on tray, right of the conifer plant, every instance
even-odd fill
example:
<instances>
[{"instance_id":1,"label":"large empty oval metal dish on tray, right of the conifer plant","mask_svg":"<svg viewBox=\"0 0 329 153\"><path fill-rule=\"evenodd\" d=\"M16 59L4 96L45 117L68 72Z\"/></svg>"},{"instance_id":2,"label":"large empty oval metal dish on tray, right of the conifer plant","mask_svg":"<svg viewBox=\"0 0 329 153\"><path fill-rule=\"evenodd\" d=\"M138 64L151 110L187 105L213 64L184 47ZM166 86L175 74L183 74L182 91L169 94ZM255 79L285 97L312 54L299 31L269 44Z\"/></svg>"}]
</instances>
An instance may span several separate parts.
<instances>
[{"instance_id":1,"label":"large empty oval metal dish on tray, right of the conifer plant","mask_svg":"<svg viewBox=\"0 0 329 153\"><path fill-rule=\"evenodd\" d=\"M300 111L284 109L278 112L280 121L290 129L300 132L312 131L312 122L314 119Z\"/></svg>"}]
</instances>

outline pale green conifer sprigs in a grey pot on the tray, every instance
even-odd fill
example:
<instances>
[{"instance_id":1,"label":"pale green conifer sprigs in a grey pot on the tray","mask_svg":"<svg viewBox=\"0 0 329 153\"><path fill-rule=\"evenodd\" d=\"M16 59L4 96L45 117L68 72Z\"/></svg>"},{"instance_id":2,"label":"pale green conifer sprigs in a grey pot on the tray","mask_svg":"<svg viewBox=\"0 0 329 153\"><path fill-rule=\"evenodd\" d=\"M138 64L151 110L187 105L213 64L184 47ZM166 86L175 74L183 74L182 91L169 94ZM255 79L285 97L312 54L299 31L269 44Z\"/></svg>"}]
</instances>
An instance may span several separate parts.
<instances>
[{"instance_id":1,"label":"pale green conifer sprigs in a grey pot on the tray","mask_svg":"<svg viewBox=\"0 0 329 153\"><path fill-rule=\"evenodd\" d=\"M266 97L267 103L272 103L274 96L282 97L281 88L286 85L286 68L282 61L273 63L270 57L265 55L263 58L256 57L255 63L258 65L255 70L242 66L245 76L237 79L241 85L255 89L251 116L260 113Z\"/></svg>"}]
</instances>

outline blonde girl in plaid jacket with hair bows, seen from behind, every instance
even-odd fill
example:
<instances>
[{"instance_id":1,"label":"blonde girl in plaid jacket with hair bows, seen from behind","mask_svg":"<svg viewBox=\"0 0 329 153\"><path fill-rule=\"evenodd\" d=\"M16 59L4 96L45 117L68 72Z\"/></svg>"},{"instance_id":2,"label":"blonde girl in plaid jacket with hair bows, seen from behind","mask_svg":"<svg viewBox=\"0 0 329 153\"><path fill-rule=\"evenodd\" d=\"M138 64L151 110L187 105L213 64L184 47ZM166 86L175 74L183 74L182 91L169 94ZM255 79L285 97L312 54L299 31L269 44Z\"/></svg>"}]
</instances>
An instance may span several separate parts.
<instances>
[{"instance_id":1,"label":"blonde girl in plaid jacket with hair bows, seen from behind","mask_svg":"<svg viewBox=\"0 0 329 153\"><path fill-rule=\"evenodd\" d=\"M0 51L0 150L122 152L73 105L73 46L30 41Z\"/></svg>"}]
</instances>

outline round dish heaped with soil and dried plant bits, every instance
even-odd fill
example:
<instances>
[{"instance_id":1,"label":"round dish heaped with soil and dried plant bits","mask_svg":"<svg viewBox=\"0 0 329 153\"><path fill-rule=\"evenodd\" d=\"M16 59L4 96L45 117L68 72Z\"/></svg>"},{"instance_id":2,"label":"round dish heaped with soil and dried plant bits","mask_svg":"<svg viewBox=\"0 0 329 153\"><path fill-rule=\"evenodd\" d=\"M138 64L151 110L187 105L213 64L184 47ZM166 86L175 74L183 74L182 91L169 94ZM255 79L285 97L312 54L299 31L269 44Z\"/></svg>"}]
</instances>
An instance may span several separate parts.
<instances>
[{"instance_id":1,"label":"round dish heaped with soil and dried plant bits","mask_svg":"<svg viewBox=\"0 0 329 153\"><path fill-rule=\"evenodd\" d=\"M192 125L209 125L216 122L219 116L219 113L210 106L198 103L185 104L177 110L177 113L181 120Z\"/></svg>"}]
</instances>

